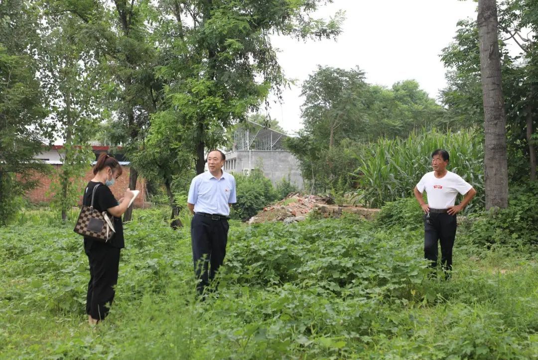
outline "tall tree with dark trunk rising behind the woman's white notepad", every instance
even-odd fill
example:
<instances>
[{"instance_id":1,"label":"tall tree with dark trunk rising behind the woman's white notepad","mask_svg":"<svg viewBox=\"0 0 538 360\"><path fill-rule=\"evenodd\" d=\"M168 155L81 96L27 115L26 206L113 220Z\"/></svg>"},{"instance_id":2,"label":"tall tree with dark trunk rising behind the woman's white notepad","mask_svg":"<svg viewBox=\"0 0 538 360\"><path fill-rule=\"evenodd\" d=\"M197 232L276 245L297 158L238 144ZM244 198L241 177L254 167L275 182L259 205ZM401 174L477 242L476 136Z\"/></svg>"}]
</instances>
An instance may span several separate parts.
<instances>
[{"instance_id":1,"label":"tall tree with dark trunk rising behind the woman's white notepad","mask_svg":"<svg viewBox=\"0 0 538 360\"><path fill-rule=\"evenodd\" d=\"M143 150L142 142L150 124L150 116L157 111L158 83L153 66L155 44L150 41L148 26L152 22L151 1L114 0L114 10L108 9L115 47L109 48L108 61L116 86L111 91L115 99L117 121L122 136L115 139L124 143L126 155L136 156ZM129 188L136 189L138 170L130 167ZM125 211L124 221L130 221L132 207Z\"/></svg>"}]
</instances>

